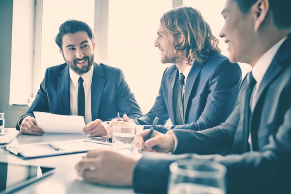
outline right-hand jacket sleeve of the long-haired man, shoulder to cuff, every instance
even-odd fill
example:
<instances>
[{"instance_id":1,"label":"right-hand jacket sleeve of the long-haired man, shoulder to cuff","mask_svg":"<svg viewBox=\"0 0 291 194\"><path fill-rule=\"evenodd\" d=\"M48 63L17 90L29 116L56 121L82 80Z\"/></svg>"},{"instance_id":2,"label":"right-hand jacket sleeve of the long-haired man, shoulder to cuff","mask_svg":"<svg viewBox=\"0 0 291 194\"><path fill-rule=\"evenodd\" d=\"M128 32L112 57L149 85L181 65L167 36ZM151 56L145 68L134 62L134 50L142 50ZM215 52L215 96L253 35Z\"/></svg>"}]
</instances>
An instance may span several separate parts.
<instances>
[{"instance_id":1,"label":"right-hand jacket sleeve of the long-haired man, shoulder to cuff","mask_svg":"<svg viewBox=\"0 0 291 194\"><path fill-rule=\"evenodd\" d=\"M169 129L191 129L194 131L209 129L225 122L238 102L242 81L242 71L238 64L228 60L218 64L209 81L210 94L206 105L196 122L169 128L157 126L156 130L165 133Z\"/></svg>"}]
</instances>

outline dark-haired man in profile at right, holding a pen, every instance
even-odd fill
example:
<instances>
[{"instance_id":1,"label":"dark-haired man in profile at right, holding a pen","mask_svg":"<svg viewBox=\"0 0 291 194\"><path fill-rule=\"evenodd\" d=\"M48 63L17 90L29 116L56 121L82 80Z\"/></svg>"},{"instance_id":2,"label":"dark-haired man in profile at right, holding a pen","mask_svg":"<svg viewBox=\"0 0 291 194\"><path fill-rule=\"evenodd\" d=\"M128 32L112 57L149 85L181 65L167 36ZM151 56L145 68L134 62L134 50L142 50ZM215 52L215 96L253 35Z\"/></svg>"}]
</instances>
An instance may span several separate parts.
<instances>
[{"instance_id":1,"label":"dark-haired man in profile at right, holding a pen","mask_svg":"<svg viewBox=\"0 0 291 194\"><path fill-rule=\"evenodd\" d=\"M166 193L171 162L204 159L226 166L228 194L290 193L289 6L283 0L226 0L222 15L225 25L220 35L228 44L230 61L253 66L242 82L239 104L226 122L198 132L174 129L162 134L154 131L145 143L148 130L137 135L138 146L144 144L149 151L196 154L147 153L138 160L116 156L113 151L91 152L76 166L85 180L133 185L137 193ZM110 168L98 167L105 160L111 161L107 163ZM96 168L86 171L88 165ZM104 172L111 175L110 169L114 169L115 176L99 177ZM123 173L123 180L117 178Z\"/></svg>"}]
</instances>

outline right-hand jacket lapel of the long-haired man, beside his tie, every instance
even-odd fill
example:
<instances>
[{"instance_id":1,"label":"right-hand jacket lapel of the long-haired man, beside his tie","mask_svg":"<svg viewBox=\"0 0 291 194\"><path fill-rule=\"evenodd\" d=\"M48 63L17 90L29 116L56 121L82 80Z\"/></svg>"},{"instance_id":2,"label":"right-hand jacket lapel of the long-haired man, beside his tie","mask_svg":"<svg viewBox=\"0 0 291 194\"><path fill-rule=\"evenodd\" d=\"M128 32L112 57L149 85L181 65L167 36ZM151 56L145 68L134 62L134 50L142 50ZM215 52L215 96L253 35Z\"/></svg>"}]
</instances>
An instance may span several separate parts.
<instances>
[{"instance_id":1,"label":"right-hand jacket lapel of the long-haired man, beside his tie","mask_svg":"<svg viewBox=\"0 0 291 194\"><path fill-rule=\"evenodd\" d=\"M196 78L203 66L204 64L201 64L195 60L186 80L185 93L184 93L184 122L185 123L186 123L185 118L186 118L187 106L189 103L189 97L191 95L191 91L193 89Z\"/></svg>"}]
</instances>

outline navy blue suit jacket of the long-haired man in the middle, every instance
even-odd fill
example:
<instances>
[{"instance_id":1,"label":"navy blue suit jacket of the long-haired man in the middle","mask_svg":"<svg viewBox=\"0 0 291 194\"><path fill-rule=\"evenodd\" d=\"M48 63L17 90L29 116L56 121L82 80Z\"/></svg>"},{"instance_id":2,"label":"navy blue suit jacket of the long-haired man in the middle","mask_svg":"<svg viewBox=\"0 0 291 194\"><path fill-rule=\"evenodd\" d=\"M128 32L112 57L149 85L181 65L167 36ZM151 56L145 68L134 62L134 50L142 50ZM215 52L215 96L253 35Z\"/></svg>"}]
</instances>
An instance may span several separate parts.
<instances>
[{"instance_id":1,"label":"navy blue suit jacket of the long-haired man in the middle","mask_svg":"<svg viewBox=\"0 0 291 194\"><path fill-rule=\"evenodd\" d=\"M234 110L242 80L242 71L238 64L231 64L228 58L219 52L210 52L205 63L197 61L191 67L186 80L184 93L185 125L175 126L174 85L178 79L176 65L169 66L163 73L159 95L152 109L137 119L140 125L151 125L156 116L158 125L164 125L171 119L170 129L203 130L221 124ZM145 126L148 129L150 126ZM156 130L165 132L163 126ZM169 128L168 128L169 129Z\"/></svg>"}]
</instances>

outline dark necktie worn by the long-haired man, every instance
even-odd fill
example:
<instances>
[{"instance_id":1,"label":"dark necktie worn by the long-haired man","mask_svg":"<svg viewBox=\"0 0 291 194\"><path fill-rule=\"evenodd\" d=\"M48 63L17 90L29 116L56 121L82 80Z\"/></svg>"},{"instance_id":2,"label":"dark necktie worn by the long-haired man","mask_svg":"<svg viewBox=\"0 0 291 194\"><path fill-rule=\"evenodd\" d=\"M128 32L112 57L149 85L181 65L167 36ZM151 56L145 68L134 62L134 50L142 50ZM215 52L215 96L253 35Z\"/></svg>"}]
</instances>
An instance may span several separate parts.
<instances>
[{"instance_id":1,"label":"dark necktie worn by the long-haired man","mask_svg":"<svg viewBox=\"0 0 291 194\"><path fill-rule=\"evenodd\" d=\"M176 106L176 125L184 124L184 113L183 113L183 86L184 86L185 76L183 73L179 75L179 85L178 85L178 97Z\"/></svg>"}]
</instances>

